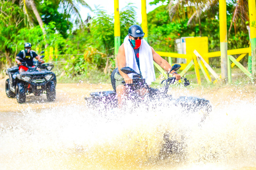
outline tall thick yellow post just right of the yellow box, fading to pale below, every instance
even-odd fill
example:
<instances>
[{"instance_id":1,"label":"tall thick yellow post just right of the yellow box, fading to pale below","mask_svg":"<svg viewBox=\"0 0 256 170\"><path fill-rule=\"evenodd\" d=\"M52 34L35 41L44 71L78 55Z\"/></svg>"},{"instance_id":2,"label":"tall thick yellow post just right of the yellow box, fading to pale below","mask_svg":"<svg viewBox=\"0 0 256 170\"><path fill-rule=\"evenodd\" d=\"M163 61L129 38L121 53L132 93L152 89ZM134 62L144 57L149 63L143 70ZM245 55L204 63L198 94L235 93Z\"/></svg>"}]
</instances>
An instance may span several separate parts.
<instances>
[{"instance_id":1,"label":"tall thick yellow post just right of the yellow box, fading to pale below","mask_svg":"<svg viewBox=\"0 0 256 170\"><path fill-rule=\"evenodd\" d=\"M254 0L255 1L255 0ZM227 83L228 79L228 41L227 41L227 3L219 0L220 19L220 53L221 53L221 79Z\"/></svg>"}]
</instances>

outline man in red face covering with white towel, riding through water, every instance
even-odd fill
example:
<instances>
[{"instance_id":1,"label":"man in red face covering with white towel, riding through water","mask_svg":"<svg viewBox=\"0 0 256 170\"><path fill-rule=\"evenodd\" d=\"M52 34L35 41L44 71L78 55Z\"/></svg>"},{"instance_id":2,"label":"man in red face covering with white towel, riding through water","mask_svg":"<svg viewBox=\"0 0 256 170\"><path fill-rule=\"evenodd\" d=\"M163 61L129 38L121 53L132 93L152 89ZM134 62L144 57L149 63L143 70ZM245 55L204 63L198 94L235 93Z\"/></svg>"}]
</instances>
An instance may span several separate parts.
<instances>
[{"instance_id":1,"label":"man in red face covering with white towel, riding through water","mask_svg":"<svg viewBox=\"0 0 256 170\"><path fill-rule=\"evenodd\" d=\"M124 39L124 43L119 47L117 54L118 69L115 73L116 93L118 99L118 107L121 108L124 103L124 97L129 94L129 87L125 84L132 84L132 74L125 74L121 71L123 67L131 67L140 73L146 79L148 85L156 80L154 63L155 61L166 72L170 72L172 66L165 61L155 50L150 47L146 40L143 39L145 33L140 25L132 25L129 28L128 35ZM180 80L180 75L172 71L171 74L176 80ZM125 83L124 83L125 82ZM137 90L143 96L147 93L145 88Z\"/></svg>"}]
</instances>

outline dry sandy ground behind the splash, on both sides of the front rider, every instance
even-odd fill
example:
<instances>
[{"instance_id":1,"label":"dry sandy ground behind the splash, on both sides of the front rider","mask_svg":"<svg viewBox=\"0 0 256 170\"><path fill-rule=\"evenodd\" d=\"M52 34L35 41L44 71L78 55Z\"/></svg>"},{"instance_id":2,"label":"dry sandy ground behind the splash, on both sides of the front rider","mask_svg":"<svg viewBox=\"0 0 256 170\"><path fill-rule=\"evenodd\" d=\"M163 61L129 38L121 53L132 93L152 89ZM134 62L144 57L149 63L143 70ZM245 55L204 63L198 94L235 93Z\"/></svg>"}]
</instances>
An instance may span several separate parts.
<instances>
[{"instance_id":1,"label":"dry sandy ground behind the splash, on both sides of the front rider","mask_svg":"<svg viewBox=\"0 0 256 170\"><path fill-rule=\"evenodd\" d=\"M16 98L8 98L5 94L5 79L0 79L0 112L19 112L28 106L32 109L44 109L54 106L69 104L83 105L84 97L89 97L90 92L112 90L111 84L86 84L86 83L58 83L56 88L56 100L49 103L46 95L34 96L30 94L25 104L18 104ZM209 99L213 106L224 107L223 103L231 100L246 100L249 103L256 100L256 86L214 86L214 87L182 87L169 90L174 97L197 96Z\"/></svg>"}]
</instances>

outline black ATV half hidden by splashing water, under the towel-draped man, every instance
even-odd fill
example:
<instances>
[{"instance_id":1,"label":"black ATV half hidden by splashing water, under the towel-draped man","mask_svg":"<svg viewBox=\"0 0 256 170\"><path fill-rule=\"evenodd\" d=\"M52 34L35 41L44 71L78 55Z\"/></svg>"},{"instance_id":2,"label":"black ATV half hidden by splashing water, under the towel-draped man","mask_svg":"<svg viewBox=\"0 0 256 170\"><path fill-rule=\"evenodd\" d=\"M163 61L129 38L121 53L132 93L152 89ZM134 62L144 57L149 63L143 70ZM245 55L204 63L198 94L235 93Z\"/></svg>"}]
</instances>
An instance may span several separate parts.
<instances>
[{"instance_id":1,"label":"black ATV half hidden by splashing water, under the towel-draped man","mask_svg":"<svg viewBox=\"0 0 256 170\"><path fill-rule=\"evenodd\" d=\"M179 64L175 64L172 66L172 70L178 71L180 69ZM171 71L172 71L171 70ZM134 73L133 75L133 83L127 84L129 88L131 89L130 97L129 99L134 101L134 105L140 105L140 103L148 104L150 105L159 105L161 102L156 101L170 101L167 102L167 104L173 104L175 106L181 106L182 112L198 112L203 111L203 117L202 121L204 121L205 117L211 112L211 104L209 100L206 100L204 98L198 98L198 97L187 97L187 96L181 96L178 99L175 99L172 97L172 95L168 95L167 91L169 89L169 86L171 83L175 82L175 78L169 77L166 80L162 81L162 84L165 83L165 86L160 89L154 89L150 88L148 84L145 82L145 79L142 78L142 75L135 72L130 67L123 67L121 69L122 72L125 74ZM85 97L85 100L87 100L87 106L93 107L93 108L99 108L100 105L104 105L106 109L117 107L117 95L116 95L116 89L115 89L115 75L116 69L111 74L111 84L113 87L113 91L100 91L100 92L92 92L90 94L91 97ZM189 81L186 78L182 78L184 82L184 86L189 86ZM139 96L136 92L134 92L137 89L140 88L146 88L148 90L148 97L147 99L145 97ZM153 102L150 102L153 101ZM164 102L163 102L164 103ZM162 104L163 104L162 103ZM165 102L166 103L166 102Z\"/></svg>"}]
</instances>

